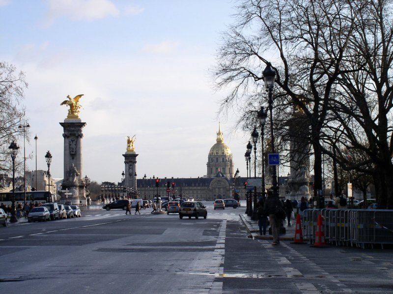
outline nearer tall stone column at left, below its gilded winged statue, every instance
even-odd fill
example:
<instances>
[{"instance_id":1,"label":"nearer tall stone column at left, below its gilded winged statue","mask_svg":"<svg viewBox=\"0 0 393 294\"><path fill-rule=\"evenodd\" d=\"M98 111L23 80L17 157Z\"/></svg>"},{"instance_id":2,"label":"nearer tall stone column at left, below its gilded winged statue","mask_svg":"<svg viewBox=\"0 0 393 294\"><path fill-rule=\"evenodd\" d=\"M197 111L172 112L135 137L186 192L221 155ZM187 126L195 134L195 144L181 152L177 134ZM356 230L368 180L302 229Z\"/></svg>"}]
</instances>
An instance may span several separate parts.
<instances>
[{"instance_id":1,"label":"nearer tall stone column at left, below its gilded winged statue","mask_svg":"<svg viewBox=\"0 0 393 294\"><path fill-rule=\"evenodd\" d=\"M83 177L83 148L82 148L82 129L86 123L79 118L66 118L63 123L64 137L64 178L62 189L68 189L72 195L68 201L72 204L86 205Z\"/></svg>"}]
</instances>

